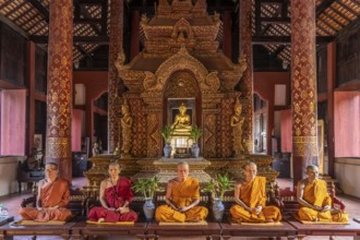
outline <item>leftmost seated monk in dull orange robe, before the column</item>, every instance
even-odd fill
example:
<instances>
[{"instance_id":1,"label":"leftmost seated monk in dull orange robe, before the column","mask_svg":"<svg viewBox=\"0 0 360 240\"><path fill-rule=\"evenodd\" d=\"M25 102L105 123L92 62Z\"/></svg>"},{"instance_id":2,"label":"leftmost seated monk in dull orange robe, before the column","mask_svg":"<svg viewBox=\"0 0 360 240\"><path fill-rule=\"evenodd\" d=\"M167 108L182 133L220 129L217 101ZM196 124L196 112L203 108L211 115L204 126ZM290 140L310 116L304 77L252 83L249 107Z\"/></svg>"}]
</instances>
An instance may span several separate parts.
<instances>
[{"instance_id":1,"label":"leftmost seated monk in dull orange robe, before the column","mask_svg":"<svg viewBox=\"0 0 360 240\"><path fill-rule=\"evenodd\" d=\"M20 215L25 220L68 220L71 217L71 212L67 208L70 201L69 182L59 178L58 173L57 164L46 164L45 179L37 185L36 208L22 207L20 211Z\"/></svg>"}]
</instances>

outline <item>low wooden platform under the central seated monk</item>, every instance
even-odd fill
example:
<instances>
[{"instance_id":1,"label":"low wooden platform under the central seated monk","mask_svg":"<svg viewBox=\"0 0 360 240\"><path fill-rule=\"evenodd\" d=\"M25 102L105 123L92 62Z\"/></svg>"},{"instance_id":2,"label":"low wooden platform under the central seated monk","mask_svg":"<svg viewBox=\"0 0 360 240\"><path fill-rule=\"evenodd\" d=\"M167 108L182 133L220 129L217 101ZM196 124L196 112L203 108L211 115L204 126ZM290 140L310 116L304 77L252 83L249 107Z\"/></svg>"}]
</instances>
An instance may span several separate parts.
<instances>
[{"instance_id":1,"label":"low wooden platform under the central seated monk","mask_svg":"<svg viewBox=\"0 0 360 240\"><path fill-rule=\"evenodd\" d=\"M207 225L167 225L159 226L156 221L147 225L147 237L161 239L161 237L205 236L207 239L220 239L221 228L218 223Z\"/></svg>"}]
</instances>

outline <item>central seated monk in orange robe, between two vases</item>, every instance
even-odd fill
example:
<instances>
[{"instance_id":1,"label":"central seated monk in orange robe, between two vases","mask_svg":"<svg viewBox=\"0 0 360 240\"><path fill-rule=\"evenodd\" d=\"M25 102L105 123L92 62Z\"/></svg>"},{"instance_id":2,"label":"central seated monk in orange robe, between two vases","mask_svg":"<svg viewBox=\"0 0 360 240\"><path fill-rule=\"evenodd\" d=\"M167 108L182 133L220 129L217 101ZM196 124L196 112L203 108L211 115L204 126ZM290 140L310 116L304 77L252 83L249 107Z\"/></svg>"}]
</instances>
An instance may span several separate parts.
<instances>
[{"instance_id":1,"label":"central seated monk in orange robe, between two vases","mask_svg":"<svg viewBox=\"0 0 360 240\"><path fill-rule=\"evenodd\" d=\"M178 164L178 177L169 180L165 201L167 205L156 208L157 221L201 221L207 216L206 207L196 206L200 203L199 180L189 177L187 161Z\"/></svg>"}]
</instances>

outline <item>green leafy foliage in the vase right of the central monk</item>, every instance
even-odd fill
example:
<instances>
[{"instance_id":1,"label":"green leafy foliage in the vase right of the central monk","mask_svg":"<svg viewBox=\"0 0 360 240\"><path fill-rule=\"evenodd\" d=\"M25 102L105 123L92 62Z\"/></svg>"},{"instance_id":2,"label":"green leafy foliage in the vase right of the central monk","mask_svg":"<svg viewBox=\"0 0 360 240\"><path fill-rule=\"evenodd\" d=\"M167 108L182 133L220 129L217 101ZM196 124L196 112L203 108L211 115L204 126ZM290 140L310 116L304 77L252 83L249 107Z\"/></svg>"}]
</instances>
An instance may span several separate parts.
<instances>
[{"instance_id":1,"label":"green leafy foliage in the vase right of the central monk","mask_svg":"<svg viewBox=\"0 0 360 240\"><path fill-rule=\"evenodd\" d=\"M220 199L224 201L224 194L228 191L233 190L235 181L227 175L218 173L215 179L212 179L205 189L204 192L211 192L214 199Z\"/></svg>"}]
</instances>

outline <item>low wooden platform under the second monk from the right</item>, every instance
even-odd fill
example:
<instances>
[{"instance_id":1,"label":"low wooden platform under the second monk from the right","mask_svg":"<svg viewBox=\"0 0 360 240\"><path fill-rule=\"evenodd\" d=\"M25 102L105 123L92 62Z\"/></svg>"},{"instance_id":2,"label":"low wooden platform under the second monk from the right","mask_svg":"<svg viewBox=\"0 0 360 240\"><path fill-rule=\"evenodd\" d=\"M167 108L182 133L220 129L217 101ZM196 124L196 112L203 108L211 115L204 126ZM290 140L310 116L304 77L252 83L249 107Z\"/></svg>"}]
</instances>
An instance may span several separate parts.
<instances>
[{"instance_id":1,"label":"low wooden platform under the second monk from the right","mask_svg":"<svg viewBox=\"0 0 360 240\"><path fill-rule=\"evenodd\" d=\"M231 225L220 223L223 239L231 237L287 237L295 239L297 230L286 221L281 226Z\"/></svg>"}]
</instances>

